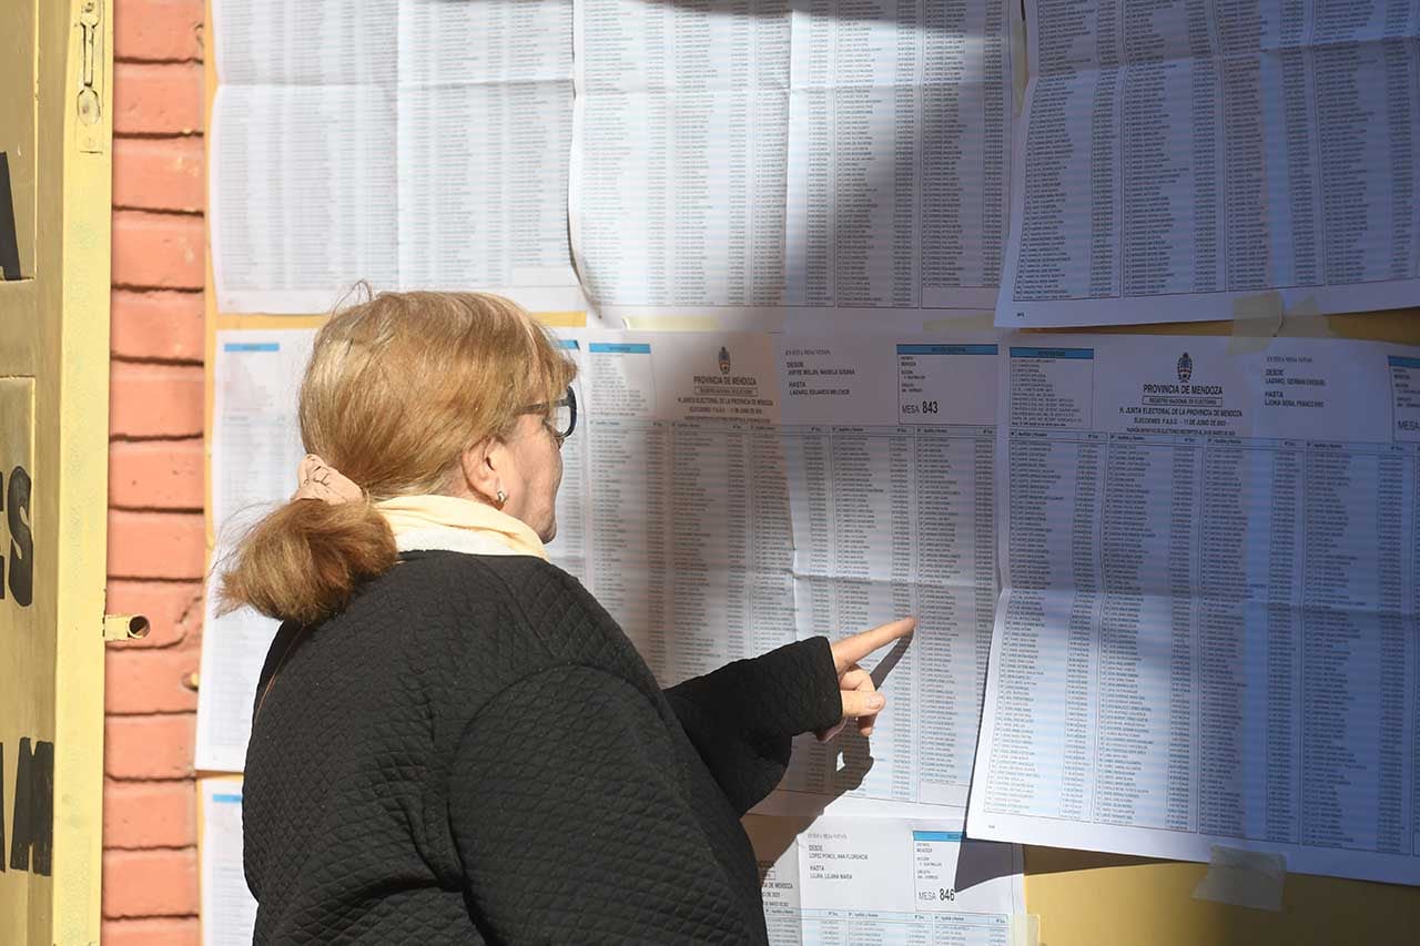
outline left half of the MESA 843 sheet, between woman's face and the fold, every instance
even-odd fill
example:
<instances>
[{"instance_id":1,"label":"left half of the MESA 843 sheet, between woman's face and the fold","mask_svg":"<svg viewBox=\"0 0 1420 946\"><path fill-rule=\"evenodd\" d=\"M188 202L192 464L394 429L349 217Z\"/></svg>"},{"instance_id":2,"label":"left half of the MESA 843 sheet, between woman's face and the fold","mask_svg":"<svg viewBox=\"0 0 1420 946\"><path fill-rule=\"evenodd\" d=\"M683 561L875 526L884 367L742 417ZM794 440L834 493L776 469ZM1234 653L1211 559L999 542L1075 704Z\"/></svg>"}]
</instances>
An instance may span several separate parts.
<instances>
[{"instance_id":1,"label":"left half of the MESA 843 sheet, between woman's face and the fold","mask_svg":"<svg viewBox=\"0 0 1420 946\"><path fill-rule=\"evenodd\" d=\"M663 685L795 639L771 337L574 332L552 561Z\"/></svg>"}]
</instances>

